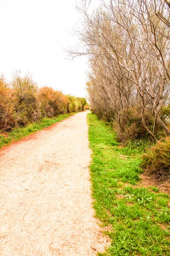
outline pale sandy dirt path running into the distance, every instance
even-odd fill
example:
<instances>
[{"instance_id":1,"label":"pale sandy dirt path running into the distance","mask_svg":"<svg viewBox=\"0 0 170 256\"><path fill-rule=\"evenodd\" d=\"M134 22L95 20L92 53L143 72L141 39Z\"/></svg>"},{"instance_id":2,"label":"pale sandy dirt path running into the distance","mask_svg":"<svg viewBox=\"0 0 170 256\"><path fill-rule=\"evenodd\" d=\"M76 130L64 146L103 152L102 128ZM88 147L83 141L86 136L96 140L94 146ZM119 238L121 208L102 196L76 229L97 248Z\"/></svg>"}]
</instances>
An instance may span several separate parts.
<instances>
[{"instance_id":1,"label":"pale sandy dirt path running into the distance","mask_svg":"<svg viewBox=\"0 0 170 256\"><path fill-rule=\"evenodd\" d=\"M0 151L0 256L94 256L87 112Z\"/></svg>"}]
</instances>

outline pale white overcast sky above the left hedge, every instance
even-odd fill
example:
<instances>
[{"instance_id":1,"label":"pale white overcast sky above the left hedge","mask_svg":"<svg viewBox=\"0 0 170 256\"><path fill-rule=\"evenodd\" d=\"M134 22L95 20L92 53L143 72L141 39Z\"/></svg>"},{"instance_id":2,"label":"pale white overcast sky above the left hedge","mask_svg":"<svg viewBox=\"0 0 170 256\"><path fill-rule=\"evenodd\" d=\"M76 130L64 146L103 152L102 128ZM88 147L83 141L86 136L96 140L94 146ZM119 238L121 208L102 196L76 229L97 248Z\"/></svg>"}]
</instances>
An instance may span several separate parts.
<instances>
[{"instance_id":1,"label":"pale white overcast sky above the left hedge","mask_svg":"<svg viewBox=\"0 0 170 256\"><path fill-rule=\"evenodd\" d=\"M86 95L86 58L65 59L62 48L75 45L68 32L79 20L75 0L1 0L0 73L27 71L38 85Z\"/></svg>"}]
</instances>

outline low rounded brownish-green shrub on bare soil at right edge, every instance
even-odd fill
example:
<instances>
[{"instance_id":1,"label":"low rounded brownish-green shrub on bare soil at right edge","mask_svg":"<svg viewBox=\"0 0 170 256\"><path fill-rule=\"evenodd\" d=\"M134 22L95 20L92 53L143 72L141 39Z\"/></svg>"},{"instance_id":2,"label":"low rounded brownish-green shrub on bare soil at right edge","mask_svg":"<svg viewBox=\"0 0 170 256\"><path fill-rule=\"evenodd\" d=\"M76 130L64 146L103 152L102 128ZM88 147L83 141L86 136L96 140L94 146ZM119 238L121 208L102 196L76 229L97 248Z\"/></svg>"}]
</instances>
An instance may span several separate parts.
<instances>
[{"instance_id":1,"label":"low rounded brownish-green shrub on bare soil at right edge","mask_svg":"<svg viewBox=\"0 0 170 256\"><path fill-rule=\"evenodd\" d=\"M142 158L143 168L162 179L170 178L170 137L159 140Z\"/></svg>"}]
</instances>

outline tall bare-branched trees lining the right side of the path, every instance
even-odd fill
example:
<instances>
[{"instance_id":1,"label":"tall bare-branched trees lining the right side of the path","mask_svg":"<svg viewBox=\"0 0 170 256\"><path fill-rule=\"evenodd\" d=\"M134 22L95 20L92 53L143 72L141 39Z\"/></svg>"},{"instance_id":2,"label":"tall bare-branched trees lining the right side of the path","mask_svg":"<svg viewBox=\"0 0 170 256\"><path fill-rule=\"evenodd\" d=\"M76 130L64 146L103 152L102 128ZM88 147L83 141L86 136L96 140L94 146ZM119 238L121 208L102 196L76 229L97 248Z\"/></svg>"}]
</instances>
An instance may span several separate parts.
<instances>
[{"instance_id":1,"label":"tall bare-branched trees lining the right side of the path","mask_svg":"<svg viewBox=\"0 0 170 256\"><path fill-rule=\"evenodd\" d=\"M119 140L156 143L163 131L170 135L170 119L162 115L164 108L170 115L169 1L103 0L95 9L91 2L77 6L82 48L69 51L88 55L91 108L114 123Z\"/></svg>"}]
</instances>

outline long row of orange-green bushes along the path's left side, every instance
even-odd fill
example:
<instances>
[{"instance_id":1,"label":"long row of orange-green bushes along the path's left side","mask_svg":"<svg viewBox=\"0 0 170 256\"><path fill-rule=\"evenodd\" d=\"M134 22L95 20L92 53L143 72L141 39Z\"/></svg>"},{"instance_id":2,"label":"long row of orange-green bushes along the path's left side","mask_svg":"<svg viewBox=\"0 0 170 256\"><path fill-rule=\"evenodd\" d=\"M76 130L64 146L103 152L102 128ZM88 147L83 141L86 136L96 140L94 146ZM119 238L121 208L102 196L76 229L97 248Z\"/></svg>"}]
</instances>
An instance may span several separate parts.
<instances>
[{"instance_id":1,"label":"long row of orange-green bushes along the path's left side","mask_svg":"<svg viewBox=\"0 0 170 256\"><path fill-rule=\"evenodd\" d=\"M0 131L87 108L85 98L64 95L47 86L39 88L29 74L22 77L16 72L10 84L0 78Z\"/></svg>"}]
</instances>

